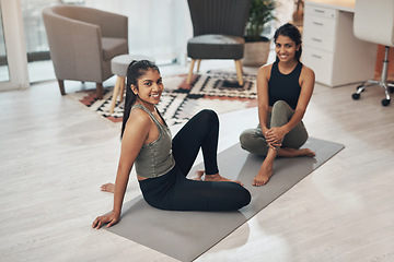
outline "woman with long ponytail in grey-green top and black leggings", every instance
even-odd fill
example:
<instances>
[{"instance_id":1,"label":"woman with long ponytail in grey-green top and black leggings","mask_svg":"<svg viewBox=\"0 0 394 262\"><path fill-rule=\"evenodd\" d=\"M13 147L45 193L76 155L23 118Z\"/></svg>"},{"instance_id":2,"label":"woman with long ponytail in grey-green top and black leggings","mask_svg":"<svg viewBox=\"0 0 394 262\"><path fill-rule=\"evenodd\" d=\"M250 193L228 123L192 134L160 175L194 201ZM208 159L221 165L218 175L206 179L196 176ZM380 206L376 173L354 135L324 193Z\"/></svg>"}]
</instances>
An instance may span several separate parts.
<instances>
[{"instance_id":1,"label":"woman with long ponytail in grey-green top and black leggings","mask_svg":"<svg viewBox=\"0 0 394 262\"><path fill-rule=\"evenodd\" d=\"M127 71L121 151L115 184L113 211L99 216L92 227L107 227L120 219L129 175L136 165L137 179L148 204L171 211L233 211L247 205L250 192L237 181L219 175L217 147L219 119L212 110L201 110L172 139L155 105L163 92L159 68L148 60L132 61ZM187 179L201 148L205 164L198 180Z\"/></svg>"}]
</instances>

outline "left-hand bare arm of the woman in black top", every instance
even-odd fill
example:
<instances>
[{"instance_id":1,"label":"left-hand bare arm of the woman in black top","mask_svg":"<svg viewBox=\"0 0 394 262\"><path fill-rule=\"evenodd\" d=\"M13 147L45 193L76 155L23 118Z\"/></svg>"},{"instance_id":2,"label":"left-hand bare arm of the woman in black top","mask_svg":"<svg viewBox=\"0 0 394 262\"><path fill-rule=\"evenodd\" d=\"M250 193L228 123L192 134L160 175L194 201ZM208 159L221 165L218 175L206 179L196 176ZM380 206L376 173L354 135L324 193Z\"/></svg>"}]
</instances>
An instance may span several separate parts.
<instances>
[{"instance_id":1,"label":"left-hand bare arm of the woman in black top","mask_svg":"<svg viewBox=\"0 0 394 262\"><path fill-rule=\"evenodd\" d=\"M273 64L263 66L257 73L257 102L258 102L258 120L263 135L268 131L268 81Z\"/></svg>"}]
</instances>

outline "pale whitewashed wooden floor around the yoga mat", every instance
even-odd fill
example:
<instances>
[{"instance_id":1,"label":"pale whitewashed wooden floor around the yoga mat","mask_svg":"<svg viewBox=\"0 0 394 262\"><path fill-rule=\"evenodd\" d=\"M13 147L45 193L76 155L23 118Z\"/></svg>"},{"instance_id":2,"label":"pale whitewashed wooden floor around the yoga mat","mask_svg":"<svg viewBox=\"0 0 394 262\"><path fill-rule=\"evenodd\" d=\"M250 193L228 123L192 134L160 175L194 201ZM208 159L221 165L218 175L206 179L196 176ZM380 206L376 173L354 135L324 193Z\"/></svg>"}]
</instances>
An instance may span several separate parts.
<instances>
[{"instance_id":1,"label":"pale whitewashed wooden floor around the yoga mat","mask_svg":"<svg viewBox=\"0 0 394 262\"><path fill-rule=\"evenodd\" d=\"M355 102L355 90L316 84L304 118L311 136L345 150L197 261L394 261L394 104L381 106L380 87ZM56 82L0 93L0 261L175 261L91 229L112 209L100 186L114 181L119 126L61 97ZM220 120L222 151L257 111ZM138 194L132 176L126 200Z\"/></svg>"}]
</instances>

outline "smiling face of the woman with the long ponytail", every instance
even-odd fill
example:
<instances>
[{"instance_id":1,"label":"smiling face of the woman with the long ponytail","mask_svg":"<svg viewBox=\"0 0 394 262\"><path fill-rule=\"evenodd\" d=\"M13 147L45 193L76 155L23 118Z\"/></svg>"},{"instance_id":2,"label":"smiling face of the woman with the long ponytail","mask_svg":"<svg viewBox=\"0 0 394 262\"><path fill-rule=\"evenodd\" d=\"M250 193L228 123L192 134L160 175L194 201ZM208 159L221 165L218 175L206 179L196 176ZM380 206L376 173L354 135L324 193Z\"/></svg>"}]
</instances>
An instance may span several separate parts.
<instances>
[{"instance_id":1,"label":"smiling face of the woman with the long ponytail","mask_svg":"<svg viewBox=\"0 0 394 262\"><path fill-rule=\"evenodd\" d=\"M157 70L149 69L146 74L138 79L138 86L131 85L131 90L144 106L153 110L154 105L160 102L164 85L160 73Z\"/></svg>"}]
</instances>

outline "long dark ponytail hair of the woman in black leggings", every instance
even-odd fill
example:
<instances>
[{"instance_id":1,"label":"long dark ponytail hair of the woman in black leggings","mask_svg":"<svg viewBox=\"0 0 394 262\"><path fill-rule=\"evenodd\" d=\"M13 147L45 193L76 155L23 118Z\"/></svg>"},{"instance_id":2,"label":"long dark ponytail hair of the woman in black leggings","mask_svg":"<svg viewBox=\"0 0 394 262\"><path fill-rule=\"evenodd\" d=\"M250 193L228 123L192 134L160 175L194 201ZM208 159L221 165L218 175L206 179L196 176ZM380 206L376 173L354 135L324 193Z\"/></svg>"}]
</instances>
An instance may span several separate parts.
<instances>
[{"instance_id":1,"label":"long dark ponytail hair of the woman in black leggings","mask_svg":"<svg viewBox=\"0 0 394 262\"><path fill-rule=\"evenodd\" d=\"M137 95L131 91L131 85L135 85L138 88L138 79L144 75L149 69L160 73L158 66L149 60L134 60L127 68L126 99L120 138L123 138L131 107L137 99Z\"/></svg>"}]
</instances>

